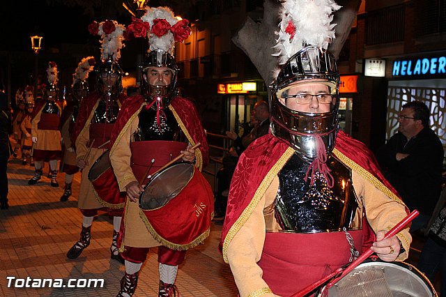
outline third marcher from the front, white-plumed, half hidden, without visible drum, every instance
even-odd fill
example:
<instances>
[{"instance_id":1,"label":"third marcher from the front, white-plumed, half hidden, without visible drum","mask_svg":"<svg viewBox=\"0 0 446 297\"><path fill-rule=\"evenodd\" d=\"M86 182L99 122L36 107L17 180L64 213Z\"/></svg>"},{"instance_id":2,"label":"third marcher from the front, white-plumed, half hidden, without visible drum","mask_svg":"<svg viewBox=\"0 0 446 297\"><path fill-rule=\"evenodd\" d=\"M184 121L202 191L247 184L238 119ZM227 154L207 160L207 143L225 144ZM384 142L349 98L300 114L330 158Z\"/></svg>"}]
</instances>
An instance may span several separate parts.
<instances>
[{"instance_id":1,"label":"third marcher from the front, white-plumed, half hidden, without visible drum","mask_svg":"<svg viewBox=\"0 0 446 297\"><path fill-rule=\"evenodd\" d=\"M67 96L67 105L63 108L59 129L61 130L63 140L63 158L61 162L61 170L65 172L65 188L61 201L67 201L71 196L71 184L74 174L79 171L76 164L76 153L74 144L71 143L72 130L74 129L79 104L89 93L89 84L86 79L93 70L95 58L87 56L77 65L73 74L71 85L72 92Z\"/></svg>"}]
</instances>

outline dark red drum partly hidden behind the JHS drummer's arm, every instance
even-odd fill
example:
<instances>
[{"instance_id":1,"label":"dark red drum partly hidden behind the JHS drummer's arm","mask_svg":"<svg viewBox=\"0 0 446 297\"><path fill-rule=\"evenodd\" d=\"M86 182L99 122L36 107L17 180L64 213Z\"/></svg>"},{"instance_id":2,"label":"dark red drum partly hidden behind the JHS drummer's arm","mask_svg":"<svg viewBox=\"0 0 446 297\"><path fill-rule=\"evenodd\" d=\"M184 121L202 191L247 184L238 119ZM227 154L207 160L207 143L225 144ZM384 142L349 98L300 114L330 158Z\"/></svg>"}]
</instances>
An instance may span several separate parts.
<instances>
[{"instance_id":1,"label":"dark red drum partly hidden behind the JHS drummer's arm","mask_svg":"<svg viewBox=\"0 0 446 297\"><path fill-rule=\"evenodd\" d=\"M89 171L89 181L98 193L100 204L109 208L122 208L125 192L119 192L118 181L110 163L109 151L105 151L95 160Z\"/></svg>"}]
</instances>

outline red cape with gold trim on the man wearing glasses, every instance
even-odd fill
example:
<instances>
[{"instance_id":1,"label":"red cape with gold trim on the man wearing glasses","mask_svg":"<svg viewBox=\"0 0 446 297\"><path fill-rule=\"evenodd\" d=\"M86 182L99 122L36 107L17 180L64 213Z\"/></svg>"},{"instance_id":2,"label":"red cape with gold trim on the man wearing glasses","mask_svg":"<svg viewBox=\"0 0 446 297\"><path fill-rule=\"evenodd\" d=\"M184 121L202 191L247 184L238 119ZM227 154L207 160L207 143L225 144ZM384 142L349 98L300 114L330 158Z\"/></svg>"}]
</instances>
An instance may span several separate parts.
<instances>
[{"instance_id":1,"label":"red cape with gold trim on the man wearing glasses","mask_svg":"<svg viewBox=\"0 0 446 297\"><path fill-rule=\"evenodd\" d=\"M249 205L254 197L255 192L267 176L270 169L279 161L279 158L284 155L288 144L282 142L277 137L268 134L259 139L256 139L243 152L238 160L236 171L233 174L231 181L230 195L226 208L226 218L222 228L222 241L220 249L223 247L226 235L229 230L234 227L234 224L242 215L245 208ZM360 167L364 168L378 179L386 188L388 188L394 195L399 195L390 183L384 178L380 172L378 163L373 153L363 144L352 137L339 131L337 134L336 144L334 146L340 153L346 155L347 158L355 162ZM406 209L406 211L408 211ZM363 228L369 234L364 236L364 241L375 241L374 232L370 227ZM238 230L234 230L238 231ZM229 243L227 243L229 244Z\"/></svg>"}]
</instances>

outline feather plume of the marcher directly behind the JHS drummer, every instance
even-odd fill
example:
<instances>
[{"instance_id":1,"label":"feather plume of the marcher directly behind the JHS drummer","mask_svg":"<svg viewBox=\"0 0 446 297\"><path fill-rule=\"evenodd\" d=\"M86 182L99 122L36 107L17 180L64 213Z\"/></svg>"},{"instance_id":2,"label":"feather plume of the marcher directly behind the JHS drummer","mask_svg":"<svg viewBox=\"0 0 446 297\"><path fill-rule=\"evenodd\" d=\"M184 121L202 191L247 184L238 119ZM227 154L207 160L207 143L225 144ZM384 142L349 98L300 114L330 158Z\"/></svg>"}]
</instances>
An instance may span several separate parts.
<instances>
[{"instance_id":1,"label":"feather plume of the marcher directly behind the JHS drummer","mask_svg":"<svg viewBox=\"0 0 446 297\"><path fill-rule=\"evenodd\" d=\"M102 28L105 22L99 23L98 35L101 38L100 59L106 61L109 57L112 57L113 61L118 61L121 58L121 49L125 46L123 43L125 26L115 20L111 20L115 26L115 30L112 33L106 34Z\"/></svg>"}]
</instances>

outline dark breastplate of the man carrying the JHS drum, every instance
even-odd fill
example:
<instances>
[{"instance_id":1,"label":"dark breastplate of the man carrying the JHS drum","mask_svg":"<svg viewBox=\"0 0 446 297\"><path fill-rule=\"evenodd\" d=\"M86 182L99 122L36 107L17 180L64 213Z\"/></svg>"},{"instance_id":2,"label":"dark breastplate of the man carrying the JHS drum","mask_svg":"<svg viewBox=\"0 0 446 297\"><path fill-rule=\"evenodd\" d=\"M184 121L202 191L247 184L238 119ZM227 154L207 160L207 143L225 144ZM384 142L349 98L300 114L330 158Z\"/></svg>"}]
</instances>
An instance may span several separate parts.
<instances>
[{"instance_id":1,"label":"dark breastplate of the man carrying the JHS drum","mask_svg":"<svg viewBox=\"0 0 446 297\"><path fill-rule=\"evenodd\" d=\"M160 115L160 125L157 123L156 114L155 109L145 109L144 107L141 109L137 130L132 135L133 142L149 140L187 141L170 109L164 109L165 116Z\"/></svg>"}]
</instances>

